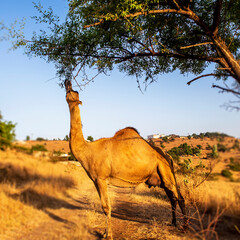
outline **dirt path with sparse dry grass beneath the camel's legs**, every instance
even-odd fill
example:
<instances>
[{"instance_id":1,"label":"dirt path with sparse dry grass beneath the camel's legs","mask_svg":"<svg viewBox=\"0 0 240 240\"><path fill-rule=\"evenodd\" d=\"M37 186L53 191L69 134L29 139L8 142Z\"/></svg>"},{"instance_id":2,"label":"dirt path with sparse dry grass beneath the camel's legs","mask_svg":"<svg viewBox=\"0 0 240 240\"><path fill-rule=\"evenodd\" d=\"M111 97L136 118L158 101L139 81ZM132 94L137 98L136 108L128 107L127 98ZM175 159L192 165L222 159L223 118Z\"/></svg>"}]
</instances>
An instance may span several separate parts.
<instances>
[{"instance_id":1,"label":"dirt path with sparse dry grass beneath the camel's legs","mask_svg":"<svg viewBox=\"0 0 240 240\"><path fill-rule=\"evenodd\" d=\"M99 200L92 199L92 196L97 196L93 190L76 191L76 195L68 197L65 206L60 209L44 209L48 216L46 221L15 239L102 239L105 216ZM114 239L185 239L180 229L170 225L168 202L161 205L144 202L141 205L137 198L134 200L134 189L111 188L110 192Z\"/></svg>"}]
</instances>

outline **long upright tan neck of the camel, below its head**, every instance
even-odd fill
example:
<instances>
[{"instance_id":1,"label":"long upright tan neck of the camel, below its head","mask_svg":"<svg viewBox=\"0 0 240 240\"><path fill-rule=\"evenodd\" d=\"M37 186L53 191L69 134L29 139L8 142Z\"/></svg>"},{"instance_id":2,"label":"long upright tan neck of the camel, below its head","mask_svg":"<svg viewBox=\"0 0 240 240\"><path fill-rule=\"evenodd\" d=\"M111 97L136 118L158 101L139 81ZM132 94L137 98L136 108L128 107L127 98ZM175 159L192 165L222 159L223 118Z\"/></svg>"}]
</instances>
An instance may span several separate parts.
<instances>
[{"instance_id":1,"label":"long upright tan neck of the camel, below its head","mask_svg":"<svg viewBox=\"0 0 240 240\"><path fill-rule=\"evenodd\" d=\"M70 146L74 155L78 155L76 153L83 150L86 146L86 142L83 137L82 132L82 122L80 116L80 109L78 104L75 102L69 103L70 110ZM75 156L76 157L76 156Z\"/></svg>"}]
</instances>

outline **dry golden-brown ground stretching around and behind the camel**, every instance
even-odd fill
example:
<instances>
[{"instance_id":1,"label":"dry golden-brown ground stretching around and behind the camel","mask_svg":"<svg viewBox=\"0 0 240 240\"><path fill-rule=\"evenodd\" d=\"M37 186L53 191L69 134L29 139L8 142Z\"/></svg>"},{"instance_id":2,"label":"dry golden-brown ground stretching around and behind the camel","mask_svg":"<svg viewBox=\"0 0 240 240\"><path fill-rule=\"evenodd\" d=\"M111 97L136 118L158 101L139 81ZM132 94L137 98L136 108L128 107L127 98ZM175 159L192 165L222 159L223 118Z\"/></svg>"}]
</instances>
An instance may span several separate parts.
<instances>
[{"instance_id":1,"label":"dry golden-brown ground stretching around and behind the camel","mask_svg":"<svg viewBox=\"0 0 240 240\"><path fill-rule=\"evenodd\" d=\"M170 203L162 189L110 187L114 239L240 239L240 171L230 167L240 162L239 149L232 148L236 139L154 142L165 151L183 143L201 145L200 154L181 156L182 164L174 164L189 229L183 231L180 212L178 227L171 225ZM211 158L209 146L219 142L226 151ZM28 151L37 144L48 151ZM0 151L0 239L102 239L105 216L93 183L78 162L56 158L69 152L68 142L17 145L21 147Z\"/></svg>"}]
</instances>

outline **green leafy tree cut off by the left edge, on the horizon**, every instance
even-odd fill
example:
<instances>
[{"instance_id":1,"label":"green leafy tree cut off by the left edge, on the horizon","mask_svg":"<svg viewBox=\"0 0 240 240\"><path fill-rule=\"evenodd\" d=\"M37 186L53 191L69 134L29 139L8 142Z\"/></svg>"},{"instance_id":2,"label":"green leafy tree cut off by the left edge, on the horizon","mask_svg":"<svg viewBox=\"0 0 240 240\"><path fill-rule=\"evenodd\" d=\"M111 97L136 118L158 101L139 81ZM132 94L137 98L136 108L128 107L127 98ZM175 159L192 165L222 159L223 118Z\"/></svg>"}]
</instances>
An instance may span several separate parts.
<instances>
[{"instance_id":1,"label":"green leafy tree cut off by the left edge, on the horizon","mask_svg":"<svg viewBox=\"0 0 240 240\"><path fill-rule=\"evenodd\" d=\"M4 150L11 146L15 139L15 126L11 121L3 121L0 114L0 150Z\"/></svg>"}]
</instances>

